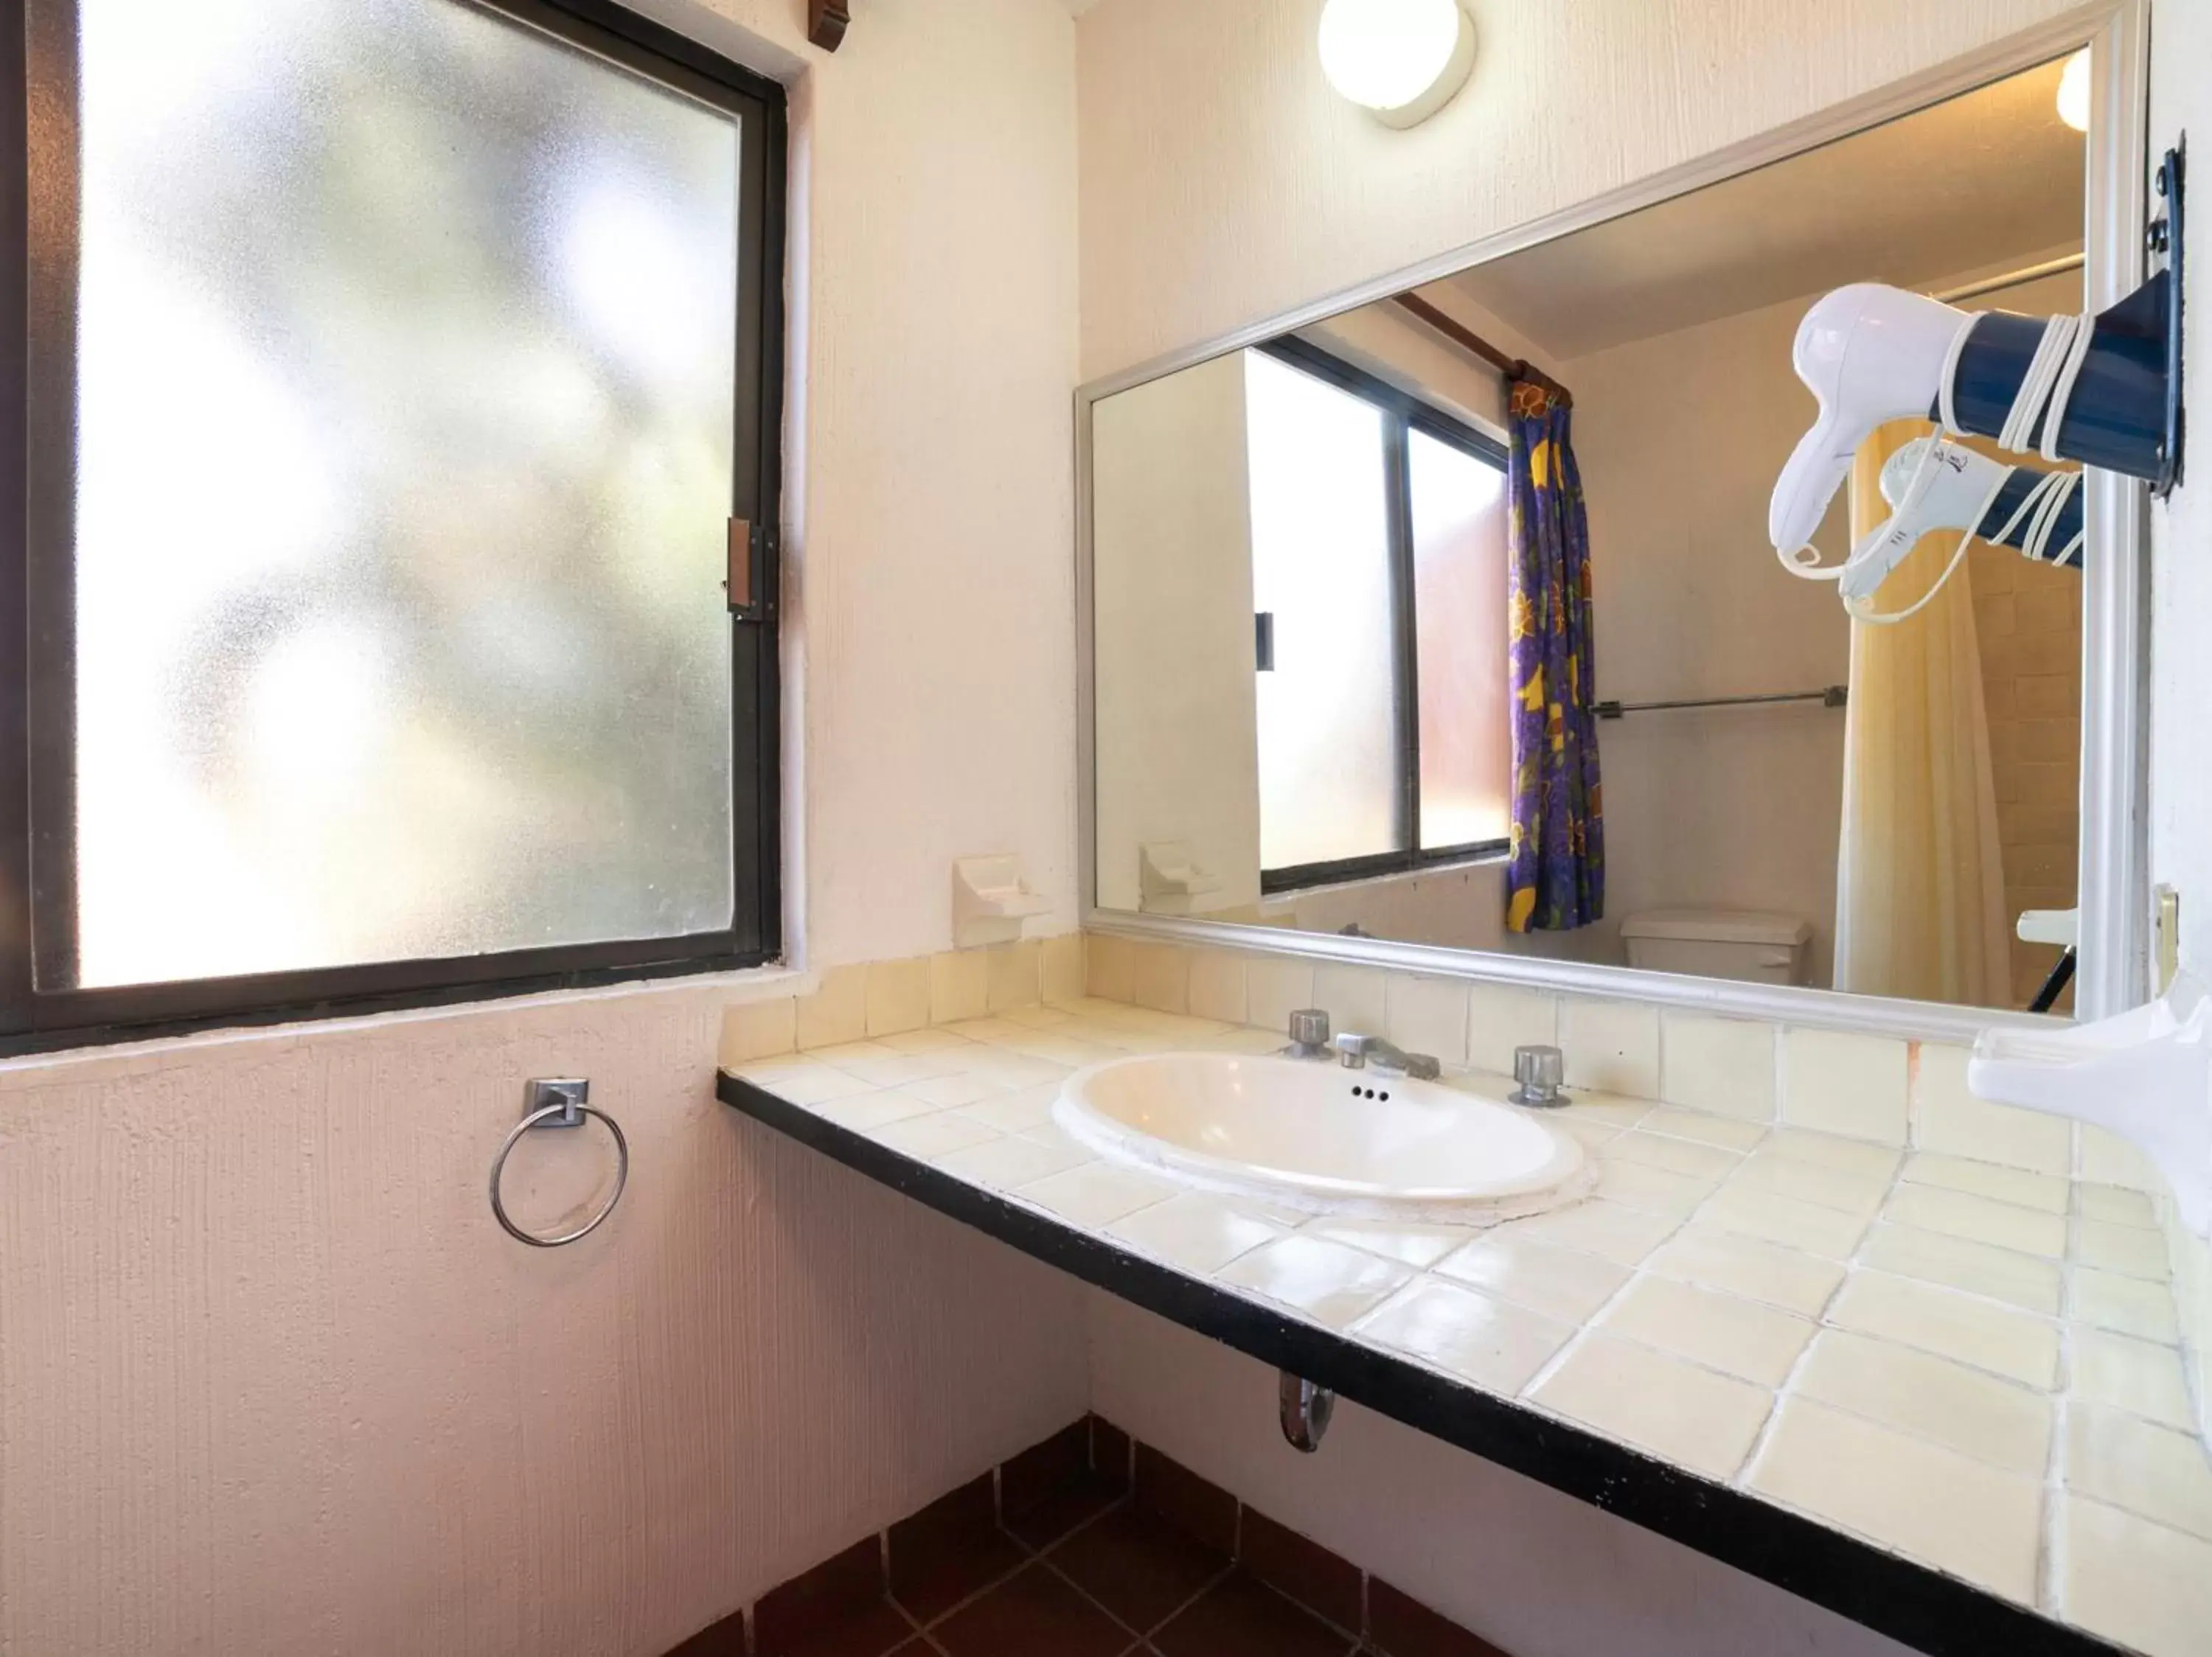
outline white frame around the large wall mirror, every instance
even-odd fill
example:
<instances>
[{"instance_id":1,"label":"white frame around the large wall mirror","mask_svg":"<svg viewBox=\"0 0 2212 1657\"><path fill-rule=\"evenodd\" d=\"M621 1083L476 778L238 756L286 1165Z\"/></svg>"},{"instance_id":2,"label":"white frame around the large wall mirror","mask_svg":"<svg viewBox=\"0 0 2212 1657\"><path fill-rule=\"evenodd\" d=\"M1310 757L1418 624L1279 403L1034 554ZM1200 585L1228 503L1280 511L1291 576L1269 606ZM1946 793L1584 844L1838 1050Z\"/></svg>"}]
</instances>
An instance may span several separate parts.
<instances>
[{"instance_id":1,"label":"white frame around the large wall mirror","mask_svg":"<svg viewBox=\"0 0 2212 1657\"><path fill-rule=\"evenodd\" d=\"M2148 199L2146 95L2148 0L2108 0L2011 35L1978 53L1820 111L1803 122L1732 144L1639 184L1564 208L1544 219L1394 270L1294 312L1239 327L1221 338L1170 352L1133 369L1091 381L1075 394L1075 628L1077 628L1077 823L1084 927L1126 938L1245 949L1334 960L1438 978L1486 980L1608 996L1615 1000L1690 1007L1736 1018L1876 1031L1909 1040L1964 1042L1993 1024L2048 1024L2046 1015L1938 1002L1849 996L1832 989L1743 984L1679 978L1632 967L1542 960L1528 956L1405 945L1387 938L1340 938L1279 927L1183 920L1097 907L1097 757L1093 748L1095 613L1091 542L1091 409L1164 374L1245 350L1345 310L1422 288L1469 265L1586 230L1624 212L1750 173L1869 126L1973 91L2004 75L2093 49L2088 131L2088 226L2084 226L2084 301L2104 310L2146 274L2143 210ZM2150 560L2148 491L2108 471L2090 471L2088 524L2099 549L2084 573L2081 595L2081 956L2075 1009L2081 1020L2110 1018L2150 996L2150 845L2148 845L2148 650Z\"/></svg>"}]
</instances>

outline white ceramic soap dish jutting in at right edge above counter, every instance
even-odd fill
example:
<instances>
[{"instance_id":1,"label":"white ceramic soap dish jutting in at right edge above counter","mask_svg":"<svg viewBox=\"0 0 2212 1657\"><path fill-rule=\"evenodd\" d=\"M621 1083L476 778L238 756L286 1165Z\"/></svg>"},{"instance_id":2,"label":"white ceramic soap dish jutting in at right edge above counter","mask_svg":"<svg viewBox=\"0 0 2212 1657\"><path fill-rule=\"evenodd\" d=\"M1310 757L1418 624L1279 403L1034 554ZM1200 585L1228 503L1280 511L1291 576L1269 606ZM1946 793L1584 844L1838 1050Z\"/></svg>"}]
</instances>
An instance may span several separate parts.
<instances>
[{"instance_id":1,"label":"white ceramic soap dish jutting in at right edge above counter","mask_svg":"<svg viewBox=\"0 0 2212 1657\"><path fill-rule=\"evenodd\" d=\"M2181 1223L2212 1239L2212 998L2197 978L2097 1024L1982 1031L1966 1088L2110 1128L2166 1175Z\"/></svg>"}]
</instances>

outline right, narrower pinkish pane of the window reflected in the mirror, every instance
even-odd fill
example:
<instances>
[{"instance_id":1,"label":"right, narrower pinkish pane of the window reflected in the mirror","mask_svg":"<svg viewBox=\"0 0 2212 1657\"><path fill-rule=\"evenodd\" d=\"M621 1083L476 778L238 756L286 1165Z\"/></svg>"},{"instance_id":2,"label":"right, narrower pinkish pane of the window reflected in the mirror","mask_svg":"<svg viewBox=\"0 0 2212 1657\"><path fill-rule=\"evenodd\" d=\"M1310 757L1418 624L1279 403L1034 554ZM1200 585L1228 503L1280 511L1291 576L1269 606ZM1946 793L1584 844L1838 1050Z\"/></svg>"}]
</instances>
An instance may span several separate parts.
<instances>
[{"instance_id":1,"label":"right, narrower pinkish pane of the window reflected in the mirror","mask_svg":"<svg viewBox=\"0 0 2212 1657\"><path fill-rule=\"evenodd\" d=\"M1407 434L1420 655L1420 845L1506 838L1506 476Z\"/></svg>"}]
</instances>

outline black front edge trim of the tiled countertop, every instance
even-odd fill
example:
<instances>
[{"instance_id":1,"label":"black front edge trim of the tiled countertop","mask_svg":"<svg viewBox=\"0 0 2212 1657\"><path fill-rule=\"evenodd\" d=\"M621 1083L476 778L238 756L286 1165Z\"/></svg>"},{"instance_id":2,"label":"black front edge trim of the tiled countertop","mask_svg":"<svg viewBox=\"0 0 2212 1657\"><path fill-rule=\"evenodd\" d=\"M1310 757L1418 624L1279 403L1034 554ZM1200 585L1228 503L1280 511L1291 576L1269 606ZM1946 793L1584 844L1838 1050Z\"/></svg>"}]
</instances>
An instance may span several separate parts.
<instances>
[{"instance_id":1,"label":"black front edge trim of the tiled countertop","mask_svg":"<svg viewBox=\"0 0 2212 1657\"><path fill-rule=\"evenodd\" d=\"M1816 1520L1119 1250L1077 1226L841 1128L743 1077L723 1073L714 1093L754 1122L1130 1305L1697 1549L1929 1657L2126 1657L2121 1646Z\"/></svg>"}]
</instances>

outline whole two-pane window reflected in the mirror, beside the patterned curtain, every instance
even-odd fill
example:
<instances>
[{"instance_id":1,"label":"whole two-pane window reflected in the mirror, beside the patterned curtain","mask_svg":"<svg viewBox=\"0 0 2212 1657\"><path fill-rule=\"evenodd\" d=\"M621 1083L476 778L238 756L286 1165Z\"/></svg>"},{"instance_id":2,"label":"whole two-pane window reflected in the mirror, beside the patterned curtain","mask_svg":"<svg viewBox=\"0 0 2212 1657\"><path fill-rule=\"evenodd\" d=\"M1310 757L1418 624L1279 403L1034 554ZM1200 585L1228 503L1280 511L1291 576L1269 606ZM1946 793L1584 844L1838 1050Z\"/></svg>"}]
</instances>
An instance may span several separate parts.
<instances>
[{"instance_id":1,"label":"whole two-pane window reflected in the mirror, beside the patterned curtain","mask_svg":"<svg viewBox=\"0 0 2212 1657\"><path fill-rule=\"evenodd\" d=\"M1500 845L1504 447L1301 341L1245 409L1263 887Z\"/></svg>"}]
</instances>

